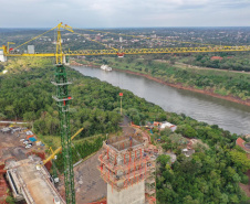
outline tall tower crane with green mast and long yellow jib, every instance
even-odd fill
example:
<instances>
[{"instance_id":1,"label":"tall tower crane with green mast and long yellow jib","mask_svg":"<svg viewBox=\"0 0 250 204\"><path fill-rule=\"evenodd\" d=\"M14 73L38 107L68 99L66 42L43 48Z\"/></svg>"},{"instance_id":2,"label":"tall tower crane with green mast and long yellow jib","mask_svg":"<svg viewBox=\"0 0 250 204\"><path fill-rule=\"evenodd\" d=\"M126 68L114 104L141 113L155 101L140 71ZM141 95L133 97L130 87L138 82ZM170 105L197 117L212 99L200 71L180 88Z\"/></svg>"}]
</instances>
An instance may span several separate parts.
<instances>
[{"instance_id":1,"label":"tall tower crane with green mast and long yellow jib","mask_svg":"<svg viewBox=\"0 0 250 204\"><path fill-rule=\"evenodd\" d=\"M55 53L18 53L18 49L29 42L46 34L52 30L58 30L58 37L56 37L56 52ZM13 50L9 49L8 46L3 45L0 47L0 56L2 58L7 56L52 56L55 57L55 72L54 72L54 82L53 85L56 86L56 94L53 98L56 101L59 107L59 115L60 115L60 132L61 132L61 143L62 147L53 151L53 153L43 161L45 164L48 161L54 158L56 153L62 150L63 153L63 162L64 162L64 183L65 183L65 197L67 204L75 204L75 192L74 192L74 174L73 174L73 164L72 164L72 149L71 149L71 140L70 138L70 116L69 116L69 105L72 97L69 95L67 86L71 84L67 82L65 67L63 63L65 62L65 56L76 56L76 55L117 55L124 56L125 54L157 54L157 53L204 53L204 52L240 52L240 51L250 51L250 46L200 46L200 47L163 47L163 49L114 49L111 50L83 50L83 51L63 51L62 50L62 39L61 39L61 31L66 30L70 32L74 32L71 26L63 25L63 23L59 23L56 26L52 28L51 30L22 43L21 45L14 47ZM92 31L92 30L91 30ZM77 33L79 34L79 33ZM135 36L135 35L131 35ZM147 37L148 39L148 37ZM91 40L94 41L94 40ZM96 41L94 41L96 42ZM100 42L98 42L100 43ZM183 42L185 43L185 42ZM189 43L189 42L188 42ZM103 43L101 43L103 44ZM197 43L194 43L197 44ZM103 44L104 45L104 44ZM121 98L122 99L122 98ZM121 103L122 104L122 103ZM82 131L82 129L81 129ZM77 135L77 132L76 132ZM75 135L75 136L76 136Z\"/></svg>"}]
</instances>

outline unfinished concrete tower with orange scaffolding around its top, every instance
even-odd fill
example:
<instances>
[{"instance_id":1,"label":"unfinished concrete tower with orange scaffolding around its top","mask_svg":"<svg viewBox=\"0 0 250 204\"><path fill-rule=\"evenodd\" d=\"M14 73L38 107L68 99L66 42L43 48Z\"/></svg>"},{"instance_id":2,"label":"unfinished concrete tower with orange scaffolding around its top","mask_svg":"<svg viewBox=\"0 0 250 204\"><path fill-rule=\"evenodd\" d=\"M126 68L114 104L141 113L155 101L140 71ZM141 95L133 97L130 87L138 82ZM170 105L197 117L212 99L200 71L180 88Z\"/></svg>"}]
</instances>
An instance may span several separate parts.
<instances>
[{"instance_id":1,"label":"unfinished concrete tower with orange scaffolding around its top","mask_svg":"<svg viewBox=\"0 0 250 204\"><path fill-rule=\"evenodd\" d=\"M140 135L103 142L100 171L107 183L107 203L155 203L155 158Z\"/></svg>"}]
</instances>

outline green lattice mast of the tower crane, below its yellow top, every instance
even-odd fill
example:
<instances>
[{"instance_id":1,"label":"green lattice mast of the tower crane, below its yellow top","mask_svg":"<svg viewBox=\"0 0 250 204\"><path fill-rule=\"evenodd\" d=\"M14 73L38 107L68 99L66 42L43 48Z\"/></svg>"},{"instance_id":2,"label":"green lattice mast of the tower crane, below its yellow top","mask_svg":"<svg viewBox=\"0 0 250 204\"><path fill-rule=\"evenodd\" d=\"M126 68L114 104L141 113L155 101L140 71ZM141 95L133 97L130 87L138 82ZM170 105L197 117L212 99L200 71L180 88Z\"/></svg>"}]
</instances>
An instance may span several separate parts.
<instances>
[{"instance_id":1,"label":"green lattice mast of the tower crane, below its yellow top","mask_svg":"<svg viewBox=\"0 0 250 204\"><path fill-rule=\"evenodd\" d=\"M74 172L72 163L72 149L71 149L71 132L70 132L70 112L69 104L72 97L69 96L67 82L65 67L62 64L56 64L54 73L54 82L56 86L56 95L53 98L56 100L60 115L60 133L64 164L64 185L65 198L67 204L75 204L74 191Z\"/></svg>"}]
</instances>

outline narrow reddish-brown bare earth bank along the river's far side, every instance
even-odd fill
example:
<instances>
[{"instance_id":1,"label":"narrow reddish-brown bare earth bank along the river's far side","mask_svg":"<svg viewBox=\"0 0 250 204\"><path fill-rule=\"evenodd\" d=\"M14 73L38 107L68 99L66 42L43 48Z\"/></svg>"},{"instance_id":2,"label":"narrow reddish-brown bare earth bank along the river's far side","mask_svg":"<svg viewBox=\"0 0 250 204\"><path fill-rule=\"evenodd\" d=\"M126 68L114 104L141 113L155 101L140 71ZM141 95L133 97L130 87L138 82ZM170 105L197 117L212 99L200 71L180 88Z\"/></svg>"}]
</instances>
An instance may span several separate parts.
<instances>
[{"instance_id":1,"label":"narrow reddish-brown bare earth bank along the river's far side","mask_svg":"<svg viewBox=\"0 0 250 204\"><path fill-rule=\"evenodd\" d=\"M154 76L150 76L150 75L147 75L147 74L143 74L143 73L133 72L133 71L125 71L125 69L119 69L119 68L113 68L113 69L114 71L118 71L118 72L133 74L133 75L144 76L144 77L146 77L146 78L148 78L150 80L155 80L157 83L160 83L160 84L164 84L164 85L167 85L167 86L171 86L171 87L175 87L175 88L190 90L190 92L195 92L195 93L200 93L200 94L205 94L205 95L208 95L208 96L212 96L212 97L226 99L226 100L229 100L229 101L233 101L233 103L237 103L237 104L242 104L242 105L246 105L246 106L250 106L250 100L242 100L242 99L237 98L235 96L222 96L222 95L213 93L212 90L202 90L202 89L197 89L197 88L194 88L194 87L186 87L186 86L183 86L183 84L180 84L180 83L179 84L168 83L168 82L165 82L165 80L163 80L160 78L156 78Z\"/></svg>"}]
</instances>

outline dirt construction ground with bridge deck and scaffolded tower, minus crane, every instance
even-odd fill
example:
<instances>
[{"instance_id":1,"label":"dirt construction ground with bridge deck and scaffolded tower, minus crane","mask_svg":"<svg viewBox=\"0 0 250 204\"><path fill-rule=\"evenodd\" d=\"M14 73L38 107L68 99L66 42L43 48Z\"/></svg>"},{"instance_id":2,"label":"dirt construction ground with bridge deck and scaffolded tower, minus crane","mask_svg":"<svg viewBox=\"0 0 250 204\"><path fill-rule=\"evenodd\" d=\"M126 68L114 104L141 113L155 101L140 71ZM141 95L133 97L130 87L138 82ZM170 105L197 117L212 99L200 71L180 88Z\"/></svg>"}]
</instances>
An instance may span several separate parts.
<instances>
[{"instance_id":1,"label":"dirt construction ground with bridge deck and scaffolded tower, minus crane","mask_svg":"<svg viewBox=\"0 0 250 204\"><path fill-rule=\"evenodd\" d=\"M156 203L158 151L149 149L148 136L139 129L127 124L123 130L123 136L103 141L98 152L74 168L76 203ZM51 161L41 165L46 161L44 147L22 146L24 132L0 132L1 189L11 189L19 203L65 203L63 175L58 184L50 174Z\"/></svg>"}]
</instances>

